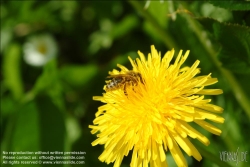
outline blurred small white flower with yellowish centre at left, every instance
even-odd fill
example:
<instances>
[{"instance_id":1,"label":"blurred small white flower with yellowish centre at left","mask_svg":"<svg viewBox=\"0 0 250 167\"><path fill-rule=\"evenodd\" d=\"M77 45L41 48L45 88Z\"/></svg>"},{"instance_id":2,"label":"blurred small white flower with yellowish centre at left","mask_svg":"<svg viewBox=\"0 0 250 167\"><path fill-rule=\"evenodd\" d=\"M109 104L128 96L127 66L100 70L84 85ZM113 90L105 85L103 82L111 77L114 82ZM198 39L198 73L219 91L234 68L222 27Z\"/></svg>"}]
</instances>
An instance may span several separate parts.
<instances>
[{"instance_id":1,"label":"blurred small white flower with yellowish centre at left","mask_svg":"<svg viewBox=\"0 0 250 167\"><path fill-rule=\"evenodd\" d=\"M30 37L23 46L24 61L32 66L43 66L57 55L57 44L51 35Z\"/></svg>"}]
</instances>

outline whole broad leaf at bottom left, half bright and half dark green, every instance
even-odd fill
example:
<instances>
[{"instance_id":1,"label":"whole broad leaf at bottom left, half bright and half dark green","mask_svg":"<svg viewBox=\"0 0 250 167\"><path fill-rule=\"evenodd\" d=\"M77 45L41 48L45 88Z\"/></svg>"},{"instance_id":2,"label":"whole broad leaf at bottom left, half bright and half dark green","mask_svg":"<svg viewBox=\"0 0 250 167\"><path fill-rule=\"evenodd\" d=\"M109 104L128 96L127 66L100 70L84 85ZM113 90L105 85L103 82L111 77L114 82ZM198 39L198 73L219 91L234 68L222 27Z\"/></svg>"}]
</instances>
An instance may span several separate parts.
<instances>
[{"instance_id":1,"label":"whole broad leaf at bottom left, half bright and half dark green","mask_svg":"<svg viewBox=\"0 0 250 167\"><path fill-rule=\"evenodd\" d=\"M64 115L49 96L39 96L17 110L8 119L1 151L65 151Z\"/></svg>"}]
</instances>

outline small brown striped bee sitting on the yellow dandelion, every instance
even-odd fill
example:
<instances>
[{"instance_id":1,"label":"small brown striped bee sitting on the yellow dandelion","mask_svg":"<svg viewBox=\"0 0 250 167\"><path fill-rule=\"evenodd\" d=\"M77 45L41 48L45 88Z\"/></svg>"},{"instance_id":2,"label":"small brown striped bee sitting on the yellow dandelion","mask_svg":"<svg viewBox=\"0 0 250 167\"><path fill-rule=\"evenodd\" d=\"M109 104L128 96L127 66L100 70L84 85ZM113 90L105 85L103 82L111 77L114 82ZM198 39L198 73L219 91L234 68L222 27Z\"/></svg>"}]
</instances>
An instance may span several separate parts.
<instances>
[{"instance_id":1,"label":"small brown striped bee sitting on the yellow dandelion","mask_svg":"<svg viewBox=\"0 0 250 167\"><path fill-rule=\"evenodd\" d=\"M143 79L140 73L134 71L127 71L125 74L110 75L107 78L112 78L106 85L106 92L117 89L123 89L125 95L126 86L137 86L139 82L143 83Z\"/></svg>"}]
</instances>

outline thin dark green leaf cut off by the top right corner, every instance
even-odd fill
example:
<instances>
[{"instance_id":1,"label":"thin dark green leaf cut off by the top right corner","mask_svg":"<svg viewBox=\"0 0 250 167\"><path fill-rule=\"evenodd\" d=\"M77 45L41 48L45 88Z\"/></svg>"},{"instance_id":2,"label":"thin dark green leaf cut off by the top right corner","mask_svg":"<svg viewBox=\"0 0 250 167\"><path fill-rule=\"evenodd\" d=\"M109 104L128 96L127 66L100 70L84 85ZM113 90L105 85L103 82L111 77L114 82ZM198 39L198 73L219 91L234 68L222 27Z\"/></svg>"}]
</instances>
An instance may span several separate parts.
<instances>
[{"instance_id":1,"label":"thin dark green leaf cut off by the top right corner","mask_svg":"<svg viewBox=\"0 0 250 167\"><path fill-rule=\"evenodd\" d=\"M209 0L214 6L230 10L250 10L250 2L247 0Z\"/></svg>"}]
</instances>

